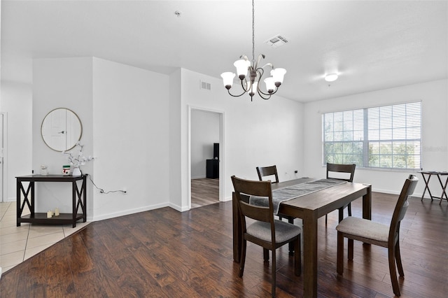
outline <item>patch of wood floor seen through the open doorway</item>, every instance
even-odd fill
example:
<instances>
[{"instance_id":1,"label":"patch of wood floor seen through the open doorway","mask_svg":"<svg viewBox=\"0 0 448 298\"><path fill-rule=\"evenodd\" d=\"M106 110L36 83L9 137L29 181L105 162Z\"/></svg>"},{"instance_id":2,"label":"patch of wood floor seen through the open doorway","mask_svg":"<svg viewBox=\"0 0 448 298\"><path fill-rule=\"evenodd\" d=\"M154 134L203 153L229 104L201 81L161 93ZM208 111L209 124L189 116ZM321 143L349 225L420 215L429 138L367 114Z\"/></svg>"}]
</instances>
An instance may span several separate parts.
<instances>
[{"instance_id":1,"label":"patch of wood floor seen through the open doorway","mask_svg":"<svg viewBox=\"0 0 448 298\"><path fill-rule=\"evenodd\" d=\"M219 179L191 180L191 208L215 204L219 201Z\"/></svg>"}]
</instances>

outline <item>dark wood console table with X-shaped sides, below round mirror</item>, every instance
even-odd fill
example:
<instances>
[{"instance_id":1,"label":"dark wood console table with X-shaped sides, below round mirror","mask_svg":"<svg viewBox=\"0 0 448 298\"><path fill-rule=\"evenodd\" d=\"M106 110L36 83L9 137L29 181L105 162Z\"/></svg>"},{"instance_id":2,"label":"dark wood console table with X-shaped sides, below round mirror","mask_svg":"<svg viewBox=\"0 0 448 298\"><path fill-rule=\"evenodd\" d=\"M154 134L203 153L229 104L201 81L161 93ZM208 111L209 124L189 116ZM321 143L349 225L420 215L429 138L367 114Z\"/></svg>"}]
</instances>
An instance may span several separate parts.
<instances>
[{"instance_id":1,"label":"dark wood console table with X-shaped sides, below round mirror","mask_svg":"<svg viewBox=\"0 0 448 298\"><path fill-rule=\"evenodd\" d=\"M87 221L86 216L86 189L87 181L85 175L82 176L62 176L62 175L29 175L15 177L17 179L17 226L20 226L21 222L31 222L46 225L66 225L71 223L73 227L76 227L78 220ZM78 187L77 181L82 181L80 187ZM27 190L22 183L29 182ZM60 213L59 216L52 216L47 218L47 213L34 212L34 189L36 182L69 182L72 187L72 213ZM23 200L21 199L23 194ZM27 204L30 214L22 215L23 209ZM78 211L80 213L78 213Z\"/></svg>"}]
</instances>

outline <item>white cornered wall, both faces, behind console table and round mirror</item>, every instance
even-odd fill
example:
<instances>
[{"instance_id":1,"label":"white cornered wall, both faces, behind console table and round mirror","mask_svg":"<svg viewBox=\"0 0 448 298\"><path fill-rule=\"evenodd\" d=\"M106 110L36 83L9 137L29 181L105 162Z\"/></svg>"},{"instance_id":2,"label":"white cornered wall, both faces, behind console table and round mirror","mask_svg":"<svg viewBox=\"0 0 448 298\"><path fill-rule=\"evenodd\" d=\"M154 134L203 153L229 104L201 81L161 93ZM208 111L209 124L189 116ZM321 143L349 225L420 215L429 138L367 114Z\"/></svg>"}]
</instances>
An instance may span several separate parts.
<instances>
[{"instance_id":1,"label":"white cornered wall, both faces, behind console table and round mirror","mask_svg":"<svg viewBox=\"0 0 448 298\"><path fill-rule=\"evenodd\" d=\"M104 59L34 61L33 169L48 164L60 173L66 158L45 146L41 121L48 111L70 108L83 124L85 154L97 157L82 166L104 192L87 180L87 220L168 206L168 76ZM157 86L157 88L153 88ZM71 212L71 187L38 183L36 211L56 206Z\"/></svg>"}]
</instances>

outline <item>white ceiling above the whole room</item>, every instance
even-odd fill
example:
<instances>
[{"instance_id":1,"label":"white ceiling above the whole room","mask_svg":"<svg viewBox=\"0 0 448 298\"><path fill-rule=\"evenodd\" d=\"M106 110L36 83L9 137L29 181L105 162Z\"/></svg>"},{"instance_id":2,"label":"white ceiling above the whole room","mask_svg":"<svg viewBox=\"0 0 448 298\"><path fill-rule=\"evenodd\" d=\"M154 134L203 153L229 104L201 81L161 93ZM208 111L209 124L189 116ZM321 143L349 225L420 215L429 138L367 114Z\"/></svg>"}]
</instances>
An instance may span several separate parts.
<instances>
[{"instance_id":1,"label":"white ceiling above the whole room","mask_svg":"<svg viewBox=\"0 0 448 298\"><path fill-rule=\"evenodd\" d=\"M447 78L447 3L256 0L255 56L287 69L278 94L302 102ZM250 0L3 0L1 78L31 83L31 59L86 56L220 78L252 56L251 15ZM269 48L276 34L288 43Z\"/></svg>"}]
</instances>

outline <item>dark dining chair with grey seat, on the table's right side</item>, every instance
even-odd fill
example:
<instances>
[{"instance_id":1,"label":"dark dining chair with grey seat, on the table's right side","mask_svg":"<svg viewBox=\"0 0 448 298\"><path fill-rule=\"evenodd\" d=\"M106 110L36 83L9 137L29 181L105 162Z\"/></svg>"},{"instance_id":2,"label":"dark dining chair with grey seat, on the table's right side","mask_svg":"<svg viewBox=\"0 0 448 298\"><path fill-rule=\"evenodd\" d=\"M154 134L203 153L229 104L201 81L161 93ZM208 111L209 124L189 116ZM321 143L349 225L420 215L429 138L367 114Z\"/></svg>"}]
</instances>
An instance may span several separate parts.
<instances>
[{"instance_id":1,"label":"dark dining chair with grey seat, on the table's right side","mask_svg":"<svg viewBox=\"0 0 448 298\"><path fill-rule=\"evenodd\" d=\"M337 225L337 273L344 272L344 238L349 239L348 257L353 260L353 240L363 241L363 243L370 243L376 246L387 248L389 272L391 275L393 293L400 296L400 288L398 287L397 272L404 277L401 256L400 256L400 222L405 217L409 201L407 198L414 193L419 178L414 175L409 175L402 187L400 196L393 210L392 220L390 225L384 225L372 220L363 218L354 218L349 216L344 218L342 222Z\"/></svg>"}]
</instances>

